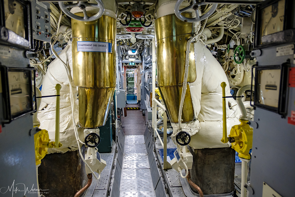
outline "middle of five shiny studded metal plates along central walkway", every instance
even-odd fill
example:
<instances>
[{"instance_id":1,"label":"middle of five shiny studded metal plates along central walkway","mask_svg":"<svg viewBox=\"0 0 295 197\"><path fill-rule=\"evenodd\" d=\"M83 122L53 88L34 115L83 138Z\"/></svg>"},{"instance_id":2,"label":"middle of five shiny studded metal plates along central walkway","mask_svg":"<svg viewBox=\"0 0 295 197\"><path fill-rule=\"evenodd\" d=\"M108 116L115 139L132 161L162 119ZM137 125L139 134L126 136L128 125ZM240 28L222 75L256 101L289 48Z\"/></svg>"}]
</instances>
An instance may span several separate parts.
<instances>
[{"instance_id":1,"label":"middle of five shiny studded metal plates along central walkway","mask_svg":"<svg viewBox=\"0 0 295 197\"><path fill-rule=\"evenodd\" d=\"M123 169L150 168L147 155L124 155Z\"/></svg>"}]
</instances>

